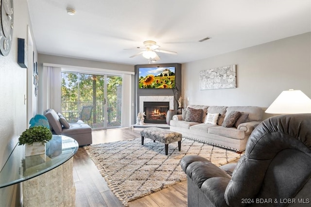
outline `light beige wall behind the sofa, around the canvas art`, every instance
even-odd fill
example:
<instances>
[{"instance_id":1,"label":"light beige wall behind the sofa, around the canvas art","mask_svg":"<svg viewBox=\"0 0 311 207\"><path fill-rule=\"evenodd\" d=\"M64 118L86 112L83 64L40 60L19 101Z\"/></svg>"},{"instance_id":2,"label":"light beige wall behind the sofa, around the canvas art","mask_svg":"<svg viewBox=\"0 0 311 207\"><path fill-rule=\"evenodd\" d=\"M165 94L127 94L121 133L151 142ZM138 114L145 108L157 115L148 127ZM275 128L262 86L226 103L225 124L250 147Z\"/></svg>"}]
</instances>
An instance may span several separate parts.
<instances>
[{"instance_id":1,"label":"light beige wall behind the sofa, around the canvas art","mask_svg":"<svg viewBox=\"0 0 311 207\"><path fill-rule=\"evenodd\" d=\"M269 107L284 90L301 90L311 97L310 57L311 32L308 32L182 64L183 97L186 105L262 108ZM200 90L201 70L231 64L237 65L237 88Z\"/></svg>"}]
</instances>

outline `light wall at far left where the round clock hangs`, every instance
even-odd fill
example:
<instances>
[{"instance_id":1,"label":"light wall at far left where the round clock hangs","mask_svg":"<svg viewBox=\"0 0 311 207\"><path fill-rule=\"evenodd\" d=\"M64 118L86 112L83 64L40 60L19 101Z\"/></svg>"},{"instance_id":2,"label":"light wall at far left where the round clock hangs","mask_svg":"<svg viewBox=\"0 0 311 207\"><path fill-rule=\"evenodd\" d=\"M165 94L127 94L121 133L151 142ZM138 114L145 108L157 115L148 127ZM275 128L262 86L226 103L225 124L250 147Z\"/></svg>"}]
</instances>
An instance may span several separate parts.
<instances>
[{"instance_id":1,"label":"light wall at far left where the round clock hangs","mask_svg":"<svg viewBox=\"0 0 311 207\"><path fill-rule=\"evenodd\" d=\"M28 127L27 105L27 69L17 64L17 38L27 40L27 25L31 22L26 0L14 1L13 43L8 56L0 55L0 169L8 159L19 135ZM31 32L32 33L32 32ZM34 43L35 60L36 49ZM32 64L30 67L31 71ZM12 173L18 169L12 168ZM19 185L0 189L0 206L19 206Z\"/></svg>"}]
</instances>

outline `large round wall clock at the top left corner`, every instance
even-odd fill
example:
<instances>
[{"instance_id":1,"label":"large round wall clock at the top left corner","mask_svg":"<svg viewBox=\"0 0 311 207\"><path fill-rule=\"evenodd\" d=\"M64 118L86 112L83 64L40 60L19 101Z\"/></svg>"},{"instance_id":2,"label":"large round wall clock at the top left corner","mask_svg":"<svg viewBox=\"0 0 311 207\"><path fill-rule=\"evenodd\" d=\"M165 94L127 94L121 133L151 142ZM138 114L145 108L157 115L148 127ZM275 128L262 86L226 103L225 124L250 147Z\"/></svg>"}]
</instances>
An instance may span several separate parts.
<instances>
[{"instance_id":1,"label":"large round wall clock at the top left corner","mask_svg":"<svg viewBox=\"0 0 311 207\"><path fill-rule=\"evenodd\" d=\"M13 39L13 0L1 0L0 53L7 56Z\"/></svg>"}]
</instances>

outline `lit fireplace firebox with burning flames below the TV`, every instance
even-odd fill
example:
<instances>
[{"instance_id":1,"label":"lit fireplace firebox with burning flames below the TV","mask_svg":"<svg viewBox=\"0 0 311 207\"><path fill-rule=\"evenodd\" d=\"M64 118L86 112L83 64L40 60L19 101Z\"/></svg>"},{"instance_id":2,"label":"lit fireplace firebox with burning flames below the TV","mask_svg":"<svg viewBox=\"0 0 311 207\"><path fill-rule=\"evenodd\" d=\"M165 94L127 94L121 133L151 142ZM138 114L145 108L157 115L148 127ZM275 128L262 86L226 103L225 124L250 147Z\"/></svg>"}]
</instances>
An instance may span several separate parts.
<instances>
[{"instance_id":1,"label":"lit fireplace firebox with burning flames below the TV","mask_svg":"<svg viewBox=\"0 0 311 207\"><path fill-rule=\"evenodd\" d=\"M170 102L143 102L146 116L145 123L166 124L166 112L170 109Z\"/></svg>"}]
</instances>

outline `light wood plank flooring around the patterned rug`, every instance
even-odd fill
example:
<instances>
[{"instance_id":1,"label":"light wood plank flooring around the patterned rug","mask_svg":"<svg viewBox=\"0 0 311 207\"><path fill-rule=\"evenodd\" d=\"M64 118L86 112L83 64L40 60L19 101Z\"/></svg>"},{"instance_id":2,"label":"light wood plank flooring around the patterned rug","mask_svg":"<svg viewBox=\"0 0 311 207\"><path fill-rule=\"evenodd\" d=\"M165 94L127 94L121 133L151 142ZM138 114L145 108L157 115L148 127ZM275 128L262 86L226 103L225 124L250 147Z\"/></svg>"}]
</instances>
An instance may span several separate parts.
<instances>
[{"instance_id":1,"label":"light wood plank flooring around the patterned rug","mask_svg":"<svg viewBox=\"0 0 311 207\"><path fill-rule=\"evenodd\" d=\"M140 137L139 128L115 128L92 132L93 144L116 142ZM76 207L123 207L107 186L84 148L73 157ZM130 207L187 207L187 181L129 202Z\"/></svg>"}]
</instances>

